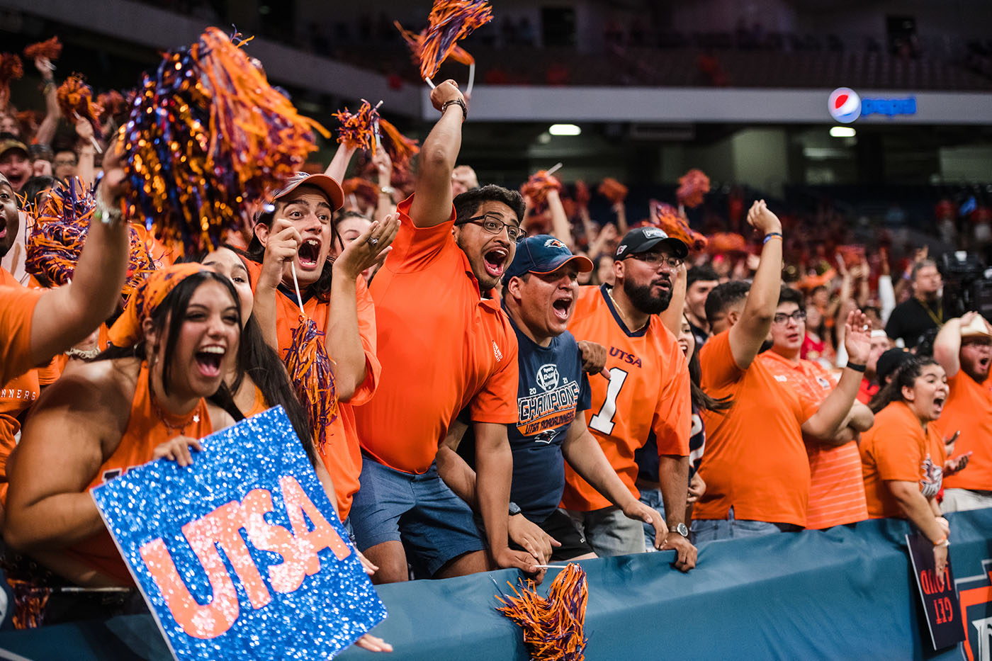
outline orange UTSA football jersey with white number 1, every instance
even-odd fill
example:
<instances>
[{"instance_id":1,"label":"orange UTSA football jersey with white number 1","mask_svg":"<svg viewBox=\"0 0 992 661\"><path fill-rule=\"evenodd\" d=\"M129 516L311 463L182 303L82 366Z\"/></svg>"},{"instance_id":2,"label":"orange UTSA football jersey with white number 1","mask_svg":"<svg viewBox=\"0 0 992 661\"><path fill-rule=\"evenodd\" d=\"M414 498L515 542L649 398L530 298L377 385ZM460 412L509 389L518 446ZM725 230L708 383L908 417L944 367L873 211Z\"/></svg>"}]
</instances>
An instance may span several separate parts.
<instances>
[{"instance_id":1,"label":"orange UTSA football jersey with white number 1","mask_svg":"<svg viewBox=\"0 0 992 661\"><path fill-rule=\"evenodd\" d=\"M635 498L640 491L634 452L654 433L659 455L688 456L692 405L688 363L675 335L657 315L640 331L627 329L606 293L607 286L581 287L568 330L575 339L606 346L607 381L589 377L592 406L586 424L603 454ZM564 466L565 486L561 506L588 512L612 503L572 470Z\"/></svg>"}]
</instances>

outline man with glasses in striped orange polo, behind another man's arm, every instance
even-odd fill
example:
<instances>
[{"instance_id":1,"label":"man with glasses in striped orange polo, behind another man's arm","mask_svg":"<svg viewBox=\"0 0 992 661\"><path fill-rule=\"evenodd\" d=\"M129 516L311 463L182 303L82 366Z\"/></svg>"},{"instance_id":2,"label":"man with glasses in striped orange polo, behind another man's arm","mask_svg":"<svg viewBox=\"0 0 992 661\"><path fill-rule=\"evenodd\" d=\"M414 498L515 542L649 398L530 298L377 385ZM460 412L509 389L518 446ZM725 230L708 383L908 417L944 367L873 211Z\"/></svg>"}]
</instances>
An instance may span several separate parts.
<instances>
[{"instance_id":1,"label":"man with glasses in striped orange polo, behind another man's arm","mask_svg":"<svg viewBox=\"0 0 992 661\"><path fill-rule=\"evenodd\" d=\"M777 379L785 379L782 383L818 405L830 394L836 381L818 362L800 358L804 335L806 305L803 294L783 287L779 307L772 319L772 348L758 359ZM868 431L874 418L871 409L855 401L847 420L829 439L819 441L804 436L809 457L806 528L818 530L868 518L857 435Z\"/></svg>"}]
</instances>

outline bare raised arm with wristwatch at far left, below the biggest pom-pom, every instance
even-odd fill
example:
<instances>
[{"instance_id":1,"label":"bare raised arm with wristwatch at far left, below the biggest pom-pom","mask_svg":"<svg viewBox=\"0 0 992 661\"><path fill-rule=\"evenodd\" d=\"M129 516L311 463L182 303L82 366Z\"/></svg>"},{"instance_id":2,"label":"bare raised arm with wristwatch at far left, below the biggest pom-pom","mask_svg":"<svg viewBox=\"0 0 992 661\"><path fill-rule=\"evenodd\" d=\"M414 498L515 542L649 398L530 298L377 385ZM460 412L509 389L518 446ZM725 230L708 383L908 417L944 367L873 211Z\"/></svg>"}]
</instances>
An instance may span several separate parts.
<instances>
[{"instance_id":1,"label":"bare raised arm with wristwatch at far left, below the biggest pom-pom","mask_svg":"<svg viewBox=\"0 0 992 661\"><path fill-rule=\"evenodd\" d=\"M109 222L89 223L72 282L38 301L31 325L31 357L37 365L68 349L105 322L121 300L127 274L128 224L120 210L124 171L116 149L104 159L105 175L96 191L97 208Z\"/></svg>"}]
</instances>

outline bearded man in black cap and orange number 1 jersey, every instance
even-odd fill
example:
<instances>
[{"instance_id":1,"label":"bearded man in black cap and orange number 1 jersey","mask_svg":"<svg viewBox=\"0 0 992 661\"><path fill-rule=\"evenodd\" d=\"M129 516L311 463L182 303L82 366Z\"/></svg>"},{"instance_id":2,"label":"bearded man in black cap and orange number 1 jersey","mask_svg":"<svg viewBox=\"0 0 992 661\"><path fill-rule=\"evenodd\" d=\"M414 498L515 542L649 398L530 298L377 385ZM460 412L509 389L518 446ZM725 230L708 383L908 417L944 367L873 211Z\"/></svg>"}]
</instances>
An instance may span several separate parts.
<instances>
[{"instance_id":1,"label":"bearded man in black cap and orange number 1 jersey","mask_svg":"<svg viewBox=\"0 0 992 661\"><path fill-rule=\"evenodd\" d=\"M589 379L586 424L634 498L634 452L654 435L669 532L661 549L676 551L676 567L695 566L685 527L691 404L688 363L658 313L672 300L673 281L688 247L657 227L638 227L614 255L614 285L583 287L570 331L607 347L610 378ZM628 518L569 466L561 505L596 555L644 553L644 527Z\"/></svg>"}]
</instances>

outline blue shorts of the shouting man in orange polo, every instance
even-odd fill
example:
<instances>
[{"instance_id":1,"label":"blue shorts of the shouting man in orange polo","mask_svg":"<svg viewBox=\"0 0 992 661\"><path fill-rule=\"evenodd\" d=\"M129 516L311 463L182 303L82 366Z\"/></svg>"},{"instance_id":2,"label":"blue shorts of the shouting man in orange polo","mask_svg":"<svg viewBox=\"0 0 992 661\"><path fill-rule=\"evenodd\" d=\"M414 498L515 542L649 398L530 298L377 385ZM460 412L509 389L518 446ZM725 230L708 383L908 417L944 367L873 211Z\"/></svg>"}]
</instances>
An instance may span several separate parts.
<instances>
[{"instance_id":1,"label":"blue shorts of the shouting man in orange polo","mask_svg":"<svg viewBox=\"0 0 992 661\"><path fill-rule=\"evenodd\" d=\"M359 482L348 516L359 551L402 542L414 573L433 577L454 558L485 550L471 508L441 480L436 465L417 475L363 457Z\"/></svg>"}]
</instances>

